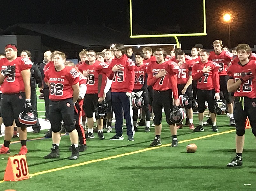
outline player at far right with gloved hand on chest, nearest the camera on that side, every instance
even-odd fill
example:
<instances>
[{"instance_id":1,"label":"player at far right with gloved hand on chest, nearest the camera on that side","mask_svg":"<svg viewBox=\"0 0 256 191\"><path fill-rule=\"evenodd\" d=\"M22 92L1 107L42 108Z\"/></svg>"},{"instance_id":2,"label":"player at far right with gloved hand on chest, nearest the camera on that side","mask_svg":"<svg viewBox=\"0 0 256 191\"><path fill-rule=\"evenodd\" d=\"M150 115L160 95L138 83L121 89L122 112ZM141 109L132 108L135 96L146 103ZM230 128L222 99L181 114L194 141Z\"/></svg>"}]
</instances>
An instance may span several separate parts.
<instances>
[{"instance_id":1,"label":"player at far right with gloved hand on chest, nearest the camera on that side","mask_svg":"<svg viewBox=\"0 0 256 191\"><path fill-rule=\"evenodd\" d=\"M256 60L250 60L252 50L248 44L236 47L239 62L228 68L228 91L234 92L234 119L236 122L236 156L228 167L241 166L245 142L245 123L247 117L256 137Z\"/></svg>"}]
</instances>

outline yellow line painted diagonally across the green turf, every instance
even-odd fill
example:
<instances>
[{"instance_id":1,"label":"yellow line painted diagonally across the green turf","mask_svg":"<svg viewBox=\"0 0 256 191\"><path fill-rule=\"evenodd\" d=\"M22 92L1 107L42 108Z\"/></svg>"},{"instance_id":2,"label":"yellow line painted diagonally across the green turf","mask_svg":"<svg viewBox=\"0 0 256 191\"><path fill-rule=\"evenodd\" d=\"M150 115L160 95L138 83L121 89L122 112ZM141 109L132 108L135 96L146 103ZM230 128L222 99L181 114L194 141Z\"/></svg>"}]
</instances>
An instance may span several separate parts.
<instances>
[{"instance_id":1,"label":"yellow line painted diagonally across the green turf","mask_svg":"<svg viewBox=\"0 0 256 191\"><path fill-rule=\"evenodd\" d=\"M205 139L205 138L208 138L208 137L222 135L222 134L225 134L225 133L231 133L231 132L234 132L234 131L236 131L236 130L229 130L229 131L224 131L222 133L216 133L216 134L206 135L206 136L197 137L197 138L193 138L193 139L182 140L179 143L185 143L185 142L189 142L189 141L193 141L193 140ZM64 170L64 169L72 168L72 167L79 167L79 166L82 166L82 165L87 165L87 164L91 164L91 163L95 163L95 162L100 162L100 161L104 161L104 160L116 159L116 158L119 158L119 157L128 156L128 155L132 155L132 154L136 154L136 153L142 153L142 152L145 152L145 151L150 151L150 150L159 149L159 148L168 147L168 146L171 146L171 143L165 144L165 145L161 145L159 147L145 148L145 149L141 149L141 150L137 150L137 151L133 151L133 152L129 152L129 153L124 153L124 154L118 154L118 155L115 155L115 156L110 156L110 157L106 157L106 158L102 158L102 159L95 159L95 160L90 160L90 161L82 162L82 163L78 163L78 164L73 164L73 165L68 165L68 166L64 166L64 167L59 167L59 168L54 168L54 169L50 169L50 170L45 170L45 171L37 172L37 173L34 173L34 174L30 174L30 176L33 177L33 176L37 176L37 175L40 175L40 174L51 173L51 172L55 172L55 171L59 171L59 170ZM3 182L4 181L0 181L0 183L3 183Z\"/></svg>"}]
</instances>

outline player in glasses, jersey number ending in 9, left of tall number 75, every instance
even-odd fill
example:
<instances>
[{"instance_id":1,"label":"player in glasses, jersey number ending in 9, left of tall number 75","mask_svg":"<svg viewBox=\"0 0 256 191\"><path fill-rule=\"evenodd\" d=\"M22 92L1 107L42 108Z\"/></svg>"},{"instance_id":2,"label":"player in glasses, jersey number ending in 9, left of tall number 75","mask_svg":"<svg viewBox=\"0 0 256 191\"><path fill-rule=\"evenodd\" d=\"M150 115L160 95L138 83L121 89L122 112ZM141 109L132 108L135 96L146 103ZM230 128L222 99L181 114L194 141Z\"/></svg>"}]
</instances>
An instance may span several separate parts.
<instances>
[{"instance_id":1,"label":"player in glasses, jersey number ending in 9, left of tall number 75","mask_svg":"<svg viewBox=\"0 0 256 191\"><path fill-rule=\"evenodd\" d=\"M87 54L89 63L82 63L79 65L79 71L83 72L84 77L87 78L87 93L84 99L84 110L88 119L88 134L87 138L94 139L93 133L93 113L97 107L97 103L103 101L104 88L106 86L106 80L109 65L105 62L99 62L96 60L96 52L94 50L88 51ZM103 135L103 119L97 119L98 136L100 140L104 140Z\"/></svg>"}]
</instances>

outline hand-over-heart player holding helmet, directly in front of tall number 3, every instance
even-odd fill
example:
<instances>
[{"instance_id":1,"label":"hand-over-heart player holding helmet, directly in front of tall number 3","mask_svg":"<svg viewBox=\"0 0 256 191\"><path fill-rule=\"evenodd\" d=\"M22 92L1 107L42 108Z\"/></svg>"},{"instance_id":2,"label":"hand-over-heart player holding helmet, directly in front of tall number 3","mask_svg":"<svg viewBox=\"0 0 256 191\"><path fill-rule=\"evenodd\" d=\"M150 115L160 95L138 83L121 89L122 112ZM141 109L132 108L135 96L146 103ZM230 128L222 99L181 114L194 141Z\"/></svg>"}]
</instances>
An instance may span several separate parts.
<instances>
[{"instance_id":1,"label":"hand-over-heart player holding helmet, directly in front of tall number 3","mask_svg":"<svg viewBox=\"0 0 256 191\"><path fill-rule=\"evenodd\" d=\"M194 132L204 131L203 118L206 101L208 102L208 108L213 121L212 130L214 132L218 131L218 127L216 126L216 114L214 113L214 99L220 99L219 65L208 60L208 58L209 53L206 50L201 50L199 63L192 66L193 79L197 80L199 112L199 125L194 129Z\"/></svg>"}]
</instances>

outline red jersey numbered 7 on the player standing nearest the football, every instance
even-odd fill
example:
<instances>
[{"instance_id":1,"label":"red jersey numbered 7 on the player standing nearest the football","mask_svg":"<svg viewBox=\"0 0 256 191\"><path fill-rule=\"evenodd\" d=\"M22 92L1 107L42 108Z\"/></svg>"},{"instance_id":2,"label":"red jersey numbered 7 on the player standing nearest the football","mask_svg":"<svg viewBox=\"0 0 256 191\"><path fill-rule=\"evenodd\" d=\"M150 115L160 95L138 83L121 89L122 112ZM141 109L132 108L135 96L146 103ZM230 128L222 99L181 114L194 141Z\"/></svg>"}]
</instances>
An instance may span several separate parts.
<instances>
[{"instance_id":1,"label":"red jersey numbered 7 on the player standing nearest the football","mask_svg":"<svg viewBox=\"0 0 256 191\"><path fill-rule=\"evenodd\" d=\"M162 78L155 78L160 70L166 70L167 75ZM156 61L152 61L147 66L147 85L152 86L156 91L166 91L172 89L174 99L178 99L178 85L176 74L179 71L179 66L175 62L166 61L162 64L158 64Z\"/></svg>"}]
</instances>

